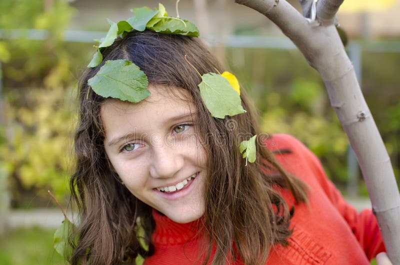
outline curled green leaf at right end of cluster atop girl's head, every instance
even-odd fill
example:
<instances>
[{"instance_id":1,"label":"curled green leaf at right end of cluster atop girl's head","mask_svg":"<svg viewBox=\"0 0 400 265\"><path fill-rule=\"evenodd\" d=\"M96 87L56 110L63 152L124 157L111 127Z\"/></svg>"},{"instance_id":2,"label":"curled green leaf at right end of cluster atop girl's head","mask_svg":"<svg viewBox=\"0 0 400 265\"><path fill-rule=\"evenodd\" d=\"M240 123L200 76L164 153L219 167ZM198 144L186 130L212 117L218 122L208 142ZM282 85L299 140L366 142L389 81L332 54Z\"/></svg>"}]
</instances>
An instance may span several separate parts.
<instances>
[{"instance_id":1,"label":"curled green leaf at right end of cluster atop girl's head","mask_svg":"<svg viewBox=\"0 0 400 265\"><path fill-rule=\"evenodd\" d=\"M189 37L198 37L197 27L193 23L179 18L163 18L155 25L147 28L165 34L181 34Z\"/></svg>"}]
</instances>

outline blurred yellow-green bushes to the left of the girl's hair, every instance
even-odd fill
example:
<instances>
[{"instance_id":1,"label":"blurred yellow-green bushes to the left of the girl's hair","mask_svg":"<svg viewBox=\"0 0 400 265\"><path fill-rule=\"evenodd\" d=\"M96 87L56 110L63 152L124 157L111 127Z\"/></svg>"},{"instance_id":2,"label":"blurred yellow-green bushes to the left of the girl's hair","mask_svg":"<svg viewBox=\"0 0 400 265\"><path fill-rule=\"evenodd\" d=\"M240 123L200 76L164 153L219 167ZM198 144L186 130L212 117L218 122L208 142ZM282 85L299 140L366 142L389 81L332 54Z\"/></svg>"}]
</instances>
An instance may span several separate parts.
<instances>
[{"instance_id":1,"label":"blurred yellow-green bushes to the left of the girl's hair","mask_svg":"<svg viewBox=\"0 0 400 265\"><path fill-rule=\"evenodd\" d=\"M11 205L46 203L48 189L62 200L71 171L76 65L84 67L91 46L62 40L75 12L67 1L2 0L0 10L5 36L13 28L48 32L45 40L0 39L0 167L8 176Z\"/></svg>"}]
</instances>

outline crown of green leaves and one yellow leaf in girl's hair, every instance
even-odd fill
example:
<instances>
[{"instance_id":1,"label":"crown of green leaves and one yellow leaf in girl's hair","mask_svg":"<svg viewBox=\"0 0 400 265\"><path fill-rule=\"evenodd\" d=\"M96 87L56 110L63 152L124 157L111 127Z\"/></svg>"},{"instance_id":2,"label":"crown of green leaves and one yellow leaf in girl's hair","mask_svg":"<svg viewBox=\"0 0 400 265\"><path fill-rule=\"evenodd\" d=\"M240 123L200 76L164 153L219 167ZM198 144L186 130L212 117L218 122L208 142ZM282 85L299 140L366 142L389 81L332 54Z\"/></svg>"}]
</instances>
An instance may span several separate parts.
<instances>
[{"instance_id":1,"label":"crown of green leaves and one yellow leaf in girl's hair","mask_svg":"<svg viewBox=\"0 0 400 265\"><path fill-rule=\"evenodd\" d=\"M144 6L133 8L131 11L134 15L127 20L115 23L108 19L107 34L95 40L98 43L98 46L95 46L97 50L88 67L98 66L103 60L102 51L112 45L117 37L123 38L131 30L148 29L164 34L181 34L191 37L199 35L193 23L180 19L178 14L177 17L168 16L161 3L155 9ZM239 83L232 73L225 71L222 74L210 72L201 75L189 61L187 62L201 77L201 82L198 84L200 95L213 117L224 118L226 115L234 116L246 112L241 105ZM125 59L107 60L87 81L87 84L100 96L133 103L140 102L150 95L145 73L133 62ZM243 158L246 158L246 164L247 160L249 162L255 160L254 136L240 143L240 152L243 153Z\"/></svg>"}]
</instances>

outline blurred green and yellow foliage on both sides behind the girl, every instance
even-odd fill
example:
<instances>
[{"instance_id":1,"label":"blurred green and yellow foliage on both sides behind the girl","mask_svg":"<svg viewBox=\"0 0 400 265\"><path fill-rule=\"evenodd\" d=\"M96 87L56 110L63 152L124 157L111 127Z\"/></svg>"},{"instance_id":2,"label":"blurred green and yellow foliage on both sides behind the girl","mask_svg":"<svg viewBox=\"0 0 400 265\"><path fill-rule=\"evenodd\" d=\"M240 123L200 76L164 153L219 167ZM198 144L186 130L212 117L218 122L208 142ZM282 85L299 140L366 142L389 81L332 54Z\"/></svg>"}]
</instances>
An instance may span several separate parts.
<instances>
[{"instance_id":1,"label":"blurred green and yellow foliage on both sides behind the girl","mask_svg":"<svg viewBox=\"0 0 400 265\"><path fill-rule=\"evenodd\" d=\"M62 40L75 13L67 1L1 0L0 10L1 29L48 30L45 40L0 39L0 172L6 171L14 207L48 203L48 189L65 199L73 169L76 80L94 49L90 43ZM344 185L347 138L318 73L300 52L227 48L225 55L259 110L262 130L299 138L321 159L328 175ZM392 69L398 68L400 54L363 52L362 58L364 94L399 175L400 75ZM360 190L365 190L362 184Z\"/></svg>"}]
</instances>

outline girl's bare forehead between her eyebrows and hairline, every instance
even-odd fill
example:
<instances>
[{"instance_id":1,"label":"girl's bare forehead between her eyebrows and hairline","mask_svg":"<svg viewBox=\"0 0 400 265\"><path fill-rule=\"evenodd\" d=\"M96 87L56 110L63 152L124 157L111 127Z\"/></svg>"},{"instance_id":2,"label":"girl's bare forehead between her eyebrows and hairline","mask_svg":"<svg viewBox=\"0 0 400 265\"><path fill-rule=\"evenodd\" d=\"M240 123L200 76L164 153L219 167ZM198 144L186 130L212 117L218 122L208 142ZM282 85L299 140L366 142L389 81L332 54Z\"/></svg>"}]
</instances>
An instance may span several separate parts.
<instances>
[{"instance_id":1,"label":"girl's bare forehead between her eyebrows and hairline","mask_svg":"<svg viewBox=\"0 0 400 265\"><path fill-rule=\"evenodd\" d=\"M146 128L175 116L195 112L193 100L183 88L150 84L148 90L150 95L138 103L118 99L104 101L101 120L106 134L117 129Z\"/></svg>"}]
</instances>

